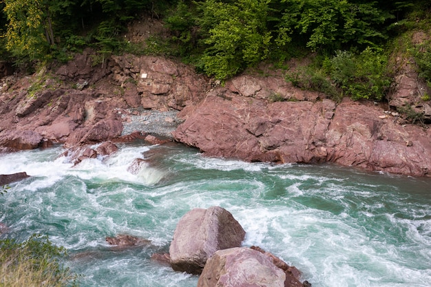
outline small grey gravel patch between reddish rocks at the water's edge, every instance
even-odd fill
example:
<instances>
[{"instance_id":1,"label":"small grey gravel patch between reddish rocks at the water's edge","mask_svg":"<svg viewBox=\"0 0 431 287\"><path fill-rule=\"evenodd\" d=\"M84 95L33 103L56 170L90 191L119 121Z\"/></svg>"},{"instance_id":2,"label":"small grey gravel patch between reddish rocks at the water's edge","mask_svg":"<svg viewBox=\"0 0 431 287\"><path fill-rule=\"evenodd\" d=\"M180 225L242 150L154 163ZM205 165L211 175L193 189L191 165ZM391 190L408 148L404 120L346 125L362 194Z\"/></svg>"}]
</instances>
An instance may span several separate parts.
<instances>
[{"instance_id":1,"label":"small grey gravel patch between reddish rocks at the water's edge","mask_svg":"<svg viewBox=\"0 0 431 287\"><path fill-rule=\"evenodd\" d=\"M183 122L177 117L178 111L130 111L130 114L123 116L122 136L140 131L145 134L160 136L173 140L172 131Z\"/></svg>"}]
</instances>

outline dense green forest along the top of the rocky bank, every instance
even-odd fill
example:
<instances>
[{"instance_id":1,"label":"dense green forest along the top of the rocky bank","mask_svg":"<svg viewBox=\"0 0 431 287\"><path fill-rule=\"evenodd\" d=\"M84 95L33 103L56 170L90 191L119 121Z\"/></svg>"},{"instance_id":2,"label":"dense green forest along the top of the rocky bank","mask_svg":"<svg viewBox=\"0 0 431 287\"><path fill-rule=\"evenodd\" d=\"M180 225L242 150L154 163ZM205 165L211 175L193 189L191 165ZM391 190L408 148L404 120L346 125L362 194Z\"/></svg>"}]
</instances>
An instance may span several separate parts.
<instances>
[{"instance_id":1,"label":"dense green forest along the top of the rocky bank","mask_svg":"<svg viewBox=\"0 0 431 287\"><path fill-rule=\"evenodd\" d=\"M283 68L312 54L312 65L287 81L335 99L382 100L399 50L431 86L431 41L409 39L414 30L431 34L427 0L1 0L0 8L0 59L15 65L65 62L92 47L103 56L174 57L224 81L262 61ZM169 36L125 41L127 23L143 15Z\"/></svg>"}]
</instances>

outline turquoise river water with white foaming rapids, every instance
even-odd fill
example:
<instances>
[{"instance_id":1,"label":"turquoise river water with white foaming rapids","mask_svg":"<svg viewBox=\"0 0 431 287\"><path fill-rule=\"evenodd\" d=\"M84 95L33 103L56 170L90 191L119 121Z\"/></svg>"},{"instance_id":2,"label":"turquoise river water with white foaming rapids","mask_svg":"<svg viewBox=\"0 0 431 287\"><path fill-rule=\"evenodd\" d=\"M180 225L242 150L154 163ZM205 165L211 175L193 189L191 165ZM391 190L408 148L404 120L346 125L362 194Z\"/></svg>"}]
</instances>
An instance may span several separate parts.
<instances>
[{"instance_id":1,"label":"turquoise river water with white foaming rapids","mask_svg":"<svg viewBox=\"0 0 431 287\"><path fill-rule=\"evenodd\" d=\"M75 167L63 149L0 155L0 174L26 171L0 196L2 238L49 235L81 286L196 286L198 277L150 259L165 253L187 211L222 206L257 245L313 287L431 286L431 180L333 165L205 158L181 145L123 145ZM137 175L135 158L151 164ZM151 246L112 248L129 234Z\"/></svg>"}]
</instances>

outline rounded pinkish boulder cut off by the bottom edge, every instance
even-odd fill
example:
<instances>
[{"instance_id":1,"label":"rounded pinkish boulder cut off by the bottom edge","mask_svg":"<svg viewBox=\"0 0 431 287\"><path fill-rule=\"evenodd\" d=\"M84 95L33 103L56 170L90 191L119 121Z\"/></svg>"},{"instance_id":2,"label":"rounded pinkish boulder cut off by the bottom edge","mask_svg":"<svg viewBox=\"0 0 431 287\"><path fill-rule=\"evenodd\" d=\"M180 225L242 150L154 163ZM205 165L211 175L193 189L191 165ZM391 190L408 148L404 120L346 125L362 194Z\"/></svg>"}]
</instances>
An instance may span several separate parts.
<instances>
[{"instance_id":1,"label":"rounded pinkish boulder cut off by the bottom edge","mask_svg":"<svg viewBox=\"0 0 431 287\"><path fill-rule=\"evenodd\" d=\"M229 248L216 251L205 264L198 287L302 287L285 285L286 274L270 257L251 248Z\"/></svg>"}]
</instances>

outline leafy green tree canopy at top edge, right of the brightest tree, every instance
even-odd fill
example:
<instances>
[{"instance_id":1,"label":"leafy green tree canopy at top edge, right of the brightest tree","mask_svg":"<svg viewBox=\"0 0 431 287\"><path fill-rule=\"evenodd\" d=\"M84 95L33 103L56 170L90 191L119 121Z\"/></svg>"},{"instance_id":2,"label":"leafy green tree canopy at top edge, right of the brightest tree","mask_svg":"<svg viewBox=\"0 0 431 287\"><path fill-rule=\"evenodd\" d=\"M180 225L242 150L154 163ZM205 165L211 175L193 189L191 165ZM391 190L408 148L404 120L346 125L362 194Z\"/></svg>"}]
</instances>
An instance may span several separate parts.
<instances>
[{"instance_id":1,"label":"leafy green tree canopy at top edge, right of the brightest tree","mask_svg":"<svg viewBox=\"0 0 431 287\"><path fill-rule=\"evenodd\" d=\"M279 24L278 41L303 34L307 47L339 49L346 44L375 45L386 39L382 24L395 18L377 1L282 0L286 6Z\"/></svg>"}]
</instances>

